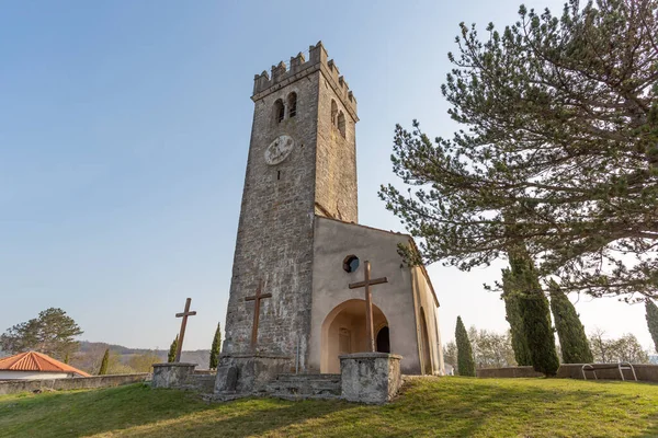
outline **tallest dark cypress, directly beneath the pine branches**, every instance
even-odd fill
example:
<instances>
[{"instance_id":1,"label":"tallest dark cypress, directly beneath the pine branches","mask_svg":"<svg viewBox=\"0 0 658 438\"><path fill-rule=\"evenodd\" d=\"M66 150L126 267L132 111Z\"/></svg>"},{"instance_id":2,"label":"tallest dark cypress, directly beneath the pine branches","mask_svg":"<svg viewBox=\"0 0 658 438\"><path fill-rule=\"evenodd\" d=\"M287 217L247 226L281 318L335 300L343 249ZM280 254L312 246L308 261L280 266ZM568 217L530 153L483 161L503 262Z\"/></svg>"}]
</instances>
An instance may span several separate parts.
<instances>
[{"instance_id":1,"label":"tallest dark cypress, directly beneath the pine branches","mask_svg":"<svg viewBox=\"0 0 658 438\"><path fill-rule=\"evenodd\" d=\"M510 279L519 296L523 332L532 366L537 372L555 376L559 368L559 358L555 349L548 299L542 290L534 263L525 249L510 252L509 258L512 274Z\"/></svg>"}]
</instances>

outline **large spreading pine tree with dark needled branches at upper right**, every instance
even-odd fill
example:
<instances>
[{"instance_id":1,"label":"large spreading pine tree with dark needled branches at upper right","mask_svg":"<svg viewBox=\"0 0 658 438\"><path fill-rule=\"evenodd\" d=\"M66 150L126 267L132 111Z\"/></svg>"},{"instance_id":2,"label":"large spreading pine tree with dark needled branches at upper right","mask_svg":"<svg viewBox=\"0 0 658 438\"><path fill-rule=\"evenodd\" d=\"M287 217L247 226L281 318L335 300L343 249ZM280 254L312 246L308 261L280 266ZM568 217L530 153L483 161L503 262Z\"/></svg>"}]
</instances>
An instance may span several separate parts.
<instances>
[{"instance_id":1,"label":"large spreading pine tree with dark needled branches at upper right","mask_svg":"<svg viewBox=\"0 0 658 438\"><path fill-rule=\"evenodd\" d=\"M566 291L657 296L657 10L572 0L555 15L521 5L484 37L460 25L442 85L458 130L396 126L409 189L379 193L426 264L469 270L523 244Z\"/></svg>"}]
</instances>

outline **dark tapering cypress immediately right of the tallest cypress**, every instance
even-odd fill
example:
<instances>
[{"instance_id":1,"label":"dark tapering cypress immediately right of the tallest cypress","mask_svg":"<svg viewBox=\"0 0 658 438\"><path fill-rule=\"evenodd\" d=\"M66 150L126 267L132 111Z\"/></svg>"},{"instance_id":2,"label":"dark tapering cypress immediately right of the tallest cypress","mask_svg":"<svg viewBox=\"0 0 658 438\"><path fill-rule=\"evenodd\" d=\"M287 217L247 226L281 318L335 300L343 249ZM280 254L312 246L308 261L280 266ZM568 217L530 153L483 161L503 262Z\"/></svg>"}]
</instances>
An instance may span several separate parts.
<instances>
[{"instance_id":1,"label":"dark tapering cypress immediately right of the tallest cypress","mask_svg":"<svg viewBox=\"0 0 658 438\"><path fill-rule=\"evenodd\" d=\"M559 338L563 361L565 364L591 364L594 358L576 308L555 281L551 281L549 292L551 311Z\"/></svg>"}]
</instances>

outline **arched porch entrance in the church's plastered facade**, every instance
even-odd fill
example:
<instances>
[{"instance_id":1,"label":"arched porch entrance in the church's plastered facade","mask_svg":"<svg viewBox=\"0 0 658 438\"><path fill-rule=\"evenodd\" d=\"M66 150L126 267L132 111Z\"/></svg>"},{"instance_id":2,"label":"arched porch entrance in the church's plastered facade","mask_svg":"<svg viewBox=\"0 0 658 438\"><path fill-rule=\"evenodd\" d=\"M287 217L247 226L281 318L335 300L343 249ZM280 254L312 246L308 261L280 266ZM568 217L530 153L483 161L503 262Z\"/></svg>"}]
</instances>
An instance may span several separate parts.
<instances>
[{"instance_id":1,"label":"arched porch entrance in the church's plastered facade","mask_svg":"<svg viewBox=\"0 0 658 438\"><path fill-rule=\"evenodd\" d=\"M373 304L373 326L377 350L390 350L388 321L379 308ZM339 373L338 356L365 351L365 301L348 300L333 308L322 322L320 372Z\"/></svg>"}]
</instances>

